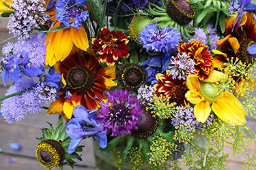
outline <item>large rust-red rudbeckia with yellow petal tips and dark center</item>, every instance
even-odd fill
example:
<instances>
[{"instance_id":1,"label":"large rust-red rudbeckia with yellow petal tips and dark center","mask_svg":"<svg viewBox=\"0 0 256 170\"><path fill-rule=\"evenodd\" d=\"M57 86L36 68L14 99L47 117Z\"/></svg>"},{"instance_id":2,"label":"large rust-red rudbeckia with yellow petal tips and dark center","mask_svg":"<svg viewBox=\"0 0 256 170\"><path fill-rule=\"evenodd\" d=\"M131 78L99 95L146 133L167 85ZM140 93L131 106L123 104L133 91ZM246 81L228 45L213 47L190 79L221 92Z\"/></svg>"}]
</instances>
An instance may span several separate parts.
<instances>
[{"instance_id":1,"label":"large rust-red rudbeckia with yellow petal tips and dark center","mask_svg":"<svg viewBox=\"0 0 256 170\"><path fill-rule=\"evenodd\" d=\"M115 67L103 68L91 49L72 52L64 61L55 64L55 71L63 76L64 89L69 95L59 91L59 99L51 103L48 114L61 113L68 119L76 105L83 105L89 110L98 109L98 102L106 101L104 90L117 86L113 82L116 78Z\"/></svg>"}]
</instances>

